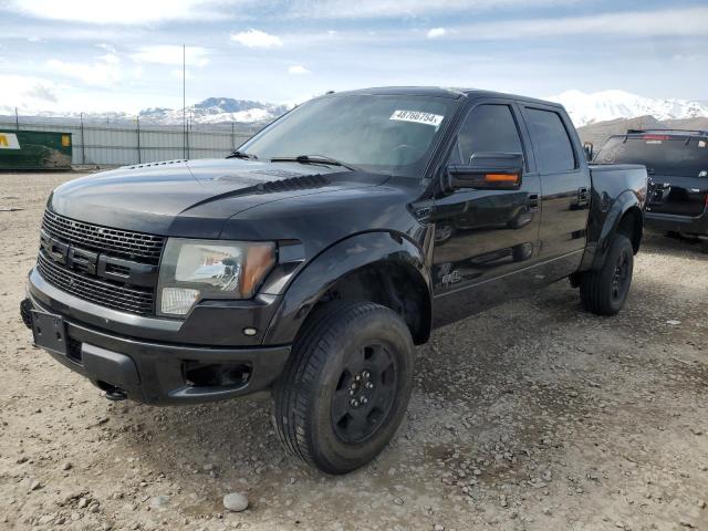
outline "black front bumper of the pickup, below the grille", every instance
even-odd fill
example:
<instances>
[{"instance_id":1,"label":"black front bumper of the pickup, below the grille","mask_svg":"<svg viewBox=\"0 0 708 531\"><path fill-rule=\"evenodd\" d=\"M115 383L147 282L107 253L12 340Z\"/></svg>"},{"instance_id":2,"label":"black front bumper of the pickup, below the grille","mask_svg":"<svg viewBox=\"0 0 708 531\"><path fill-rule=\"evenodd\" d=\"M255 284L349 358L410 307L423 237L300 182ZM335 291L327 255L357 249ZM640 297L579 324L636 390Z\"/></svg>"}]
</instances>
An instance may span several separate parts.
<instances>
[{"instance_id":1,"label":"black front bumper of the pickup, below the grille","mask_svg":"<svg viewBox=\"0 0 708 531\"><path fill-rule=\"evenodd\" d=\"M102 316L100 306L91 309L86 304L93 306L46 284L32 270L21 313L28 326L32 325L32 311L61 315L66 325L67 355L48 351L52 357L106 392L117 389L128 398L146 404L195 404L266 389L280 376L290 354L289 345L233 347L219 344L223 341L222 335L218 336L219 329L228 329L232 334L232 317L235 313L242 313L235 312L233 308L221 308L221 312L218 306L209 310L211 344L199 345L184 342L186 335L179 330L170 333L167 327L174 326L170 321L159 323L165 320L148 319L162 327L140 327L140 320L147 317L122 314L121 317L132 322L118 322ZM80 320L83 315L97 319L102 326ZM250 320L253 319L251 315ZM238 319L236 321L240 323ZM125 326L134 333L127 335L114 330ZM204 331L199 331L189 335L200 339L202 334ZM146 335L173 341L154 341Z\"/></svg>"}]
</instances>

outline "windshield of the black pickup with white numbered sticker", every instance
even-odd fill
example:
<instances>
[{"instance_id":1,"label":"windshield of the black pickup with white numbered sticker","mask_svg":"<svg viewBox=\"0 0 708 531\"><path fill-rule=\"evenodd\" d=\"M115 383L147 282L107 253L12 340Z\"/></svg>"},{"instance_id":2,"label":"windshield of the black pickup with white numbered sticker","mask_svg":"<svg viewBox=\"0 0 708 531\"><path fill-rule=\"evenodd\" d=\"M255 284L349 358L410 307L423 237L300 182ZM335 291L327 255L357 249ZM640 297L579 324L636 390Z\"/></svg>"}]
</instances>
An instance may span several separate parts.
<instances>
[{"instance_id":1,"label":"windshield of the black pickup with white numbered sticker","mask_svg":"<svg viewBox=\"0 0 708 531\"><path fill-rule=\"evenodd\" d=\"M239 152L261 160L329 157L368 171L420 178L456 104L431 96L322 97L294 108Z\"/></svg>"}]
</instances>

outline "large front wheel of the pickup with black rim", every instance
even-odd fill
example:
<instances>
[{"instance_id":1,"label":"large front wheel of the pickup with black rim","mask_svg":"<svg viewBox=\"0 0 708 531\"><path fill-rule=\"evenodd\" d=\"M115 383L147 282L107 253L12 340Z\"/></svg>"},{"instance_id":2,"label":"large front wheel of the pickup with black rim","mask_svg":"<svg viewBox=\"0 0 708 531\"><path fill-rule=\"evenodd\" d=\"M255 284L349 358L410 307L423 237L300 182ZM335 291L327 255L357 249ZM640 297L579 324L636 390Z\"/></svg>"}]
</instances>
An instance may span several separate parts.
<instances>
[{"instance_id":1,"label":"large front wheel of the pickup with black rim","mask_svg":"<svg viewBox=\"0 0 708 531\"><path fill-rule=\"evenodd\" d=\"M319 309L274 388L282 446L327 473L366 465L403 420L414 358L408 326L391 309L367 302Z\"/></svg>"}]
</instances>

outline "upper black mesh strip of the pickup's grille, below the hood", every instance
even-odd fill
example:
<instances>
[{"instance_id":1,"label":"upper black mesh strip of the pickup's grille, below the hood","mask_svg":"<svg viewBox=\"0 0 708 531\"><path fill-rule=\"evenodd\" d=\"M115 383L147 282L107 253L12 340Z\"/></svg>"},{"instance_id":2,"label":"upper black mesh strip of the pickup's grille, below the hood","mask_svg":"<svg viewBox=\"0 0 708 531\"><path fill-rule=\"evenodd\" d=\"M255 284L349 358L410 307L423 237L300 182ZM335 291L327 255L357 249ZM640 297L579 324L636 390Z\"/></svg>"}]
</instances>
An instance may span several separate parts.
<instances>
[{"instance_id":1,"label":"upper black mesh strip of the pickup's grille, below the hood","mask_svg":"<svg viewBox=\"0 0 708 531\"><path fill-rule=\"evenodd\" d=\"M139 259L157 264L165 247L162 236L111 229L98 225L84 223L44 210L42 228L66 243L92 251L106 252L126 259Z\"/></svg>"}]
</instances>

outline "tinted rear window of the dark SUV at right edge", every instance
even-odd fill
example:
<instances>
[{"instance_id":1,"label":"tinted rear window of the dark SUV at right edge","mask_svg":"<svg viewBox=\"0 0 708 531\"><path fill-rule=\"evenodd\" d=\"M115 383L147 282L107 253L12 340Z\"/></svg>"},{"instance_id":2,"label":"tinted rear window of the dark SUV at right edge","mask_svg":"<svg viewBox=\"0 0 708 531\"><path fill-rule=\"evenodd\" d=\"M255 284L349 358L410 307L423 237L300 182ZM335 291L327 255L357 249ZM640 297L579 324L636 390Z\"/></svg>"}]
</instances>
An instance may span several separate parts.
<instances>
[{"instance_id":1,"label":"tinted rear window of the dark SUV at right edge","mask_svg":"<svg viewBox=\"0 0 708 531\"><path fill-rule=\"evenodd\" d=\"M643 164L649 174L656 175L706 177L708 140L697 136L613 136L597 153L595 162Z\"/></svg>"}]
</instances>

